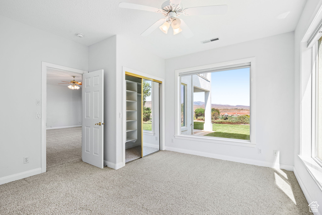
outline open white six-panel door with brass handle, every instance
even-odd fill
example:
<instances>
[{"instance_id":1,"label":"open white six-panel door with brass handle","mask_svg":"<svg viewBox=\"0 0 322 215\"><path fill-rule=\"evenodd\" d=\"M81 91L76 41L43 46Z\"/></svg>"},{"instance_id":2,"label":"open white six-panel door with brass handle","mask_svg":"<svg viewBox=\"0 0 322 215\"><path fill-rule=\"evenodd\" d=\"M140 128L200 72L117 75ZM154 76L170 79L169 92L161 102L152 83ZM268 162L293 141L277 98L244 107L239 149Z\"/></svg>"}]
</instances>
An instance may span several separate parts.
<instances>
[{"instance_id":1,"label":"open white six-panel door with brass handle","mask_svg":"<svg viewBox=\"0 0 322 215\"><path fill-rule=\"evenodd\" d=\"M83 74L82 160L103 168L104 70Z\"/></svg>"}]
</instances>

